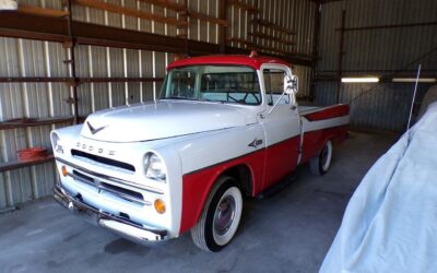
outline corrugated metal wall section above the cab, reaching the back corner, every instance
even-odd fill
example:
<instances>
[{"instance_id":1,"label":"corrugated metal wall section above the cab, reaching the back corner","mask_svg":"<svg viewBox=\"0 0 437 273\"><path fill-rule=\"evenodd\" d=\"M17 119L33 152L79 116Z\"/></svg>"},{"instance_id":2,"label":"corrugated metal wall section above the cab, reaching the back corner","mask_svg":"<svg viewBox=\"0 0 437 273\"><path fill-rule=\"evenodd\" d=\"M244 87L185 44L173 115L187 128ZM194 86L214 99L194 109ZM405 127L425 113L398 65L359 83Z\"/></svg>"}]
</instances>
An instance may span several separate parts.
<instances>
[{"instance_id":1,"label":"corrugated metal wall section above the cab, reaching the back corner","mask_svg":"<svg viewBox=\"0 0 437 273\"><path fill-rule=\"evenodd\" d=\"M253 14L238 7L228 5L227 36L239 38L243 40L253 40L253 43L263 47L274 48L287 52L298 52L299 55L310 56L312 52L314 27L317 5L308 0L244 0L243 2L253 5L260 10L259 14ZM252 20L263 20L275 25L294 31L296 34L286 38L292 40L294 45L284 45L274 39L255 38L249 33L255 33L255 24ZM260 27L261 32L271 36L280 36L277 31L269 27ZM243 43L231 43L234 47L246 48ZM276 54L277 51L267 52ZM294 72L299 76L298 97L308 97L311 68L303 66L294 66Z\"/></svg>"}]
</instances>

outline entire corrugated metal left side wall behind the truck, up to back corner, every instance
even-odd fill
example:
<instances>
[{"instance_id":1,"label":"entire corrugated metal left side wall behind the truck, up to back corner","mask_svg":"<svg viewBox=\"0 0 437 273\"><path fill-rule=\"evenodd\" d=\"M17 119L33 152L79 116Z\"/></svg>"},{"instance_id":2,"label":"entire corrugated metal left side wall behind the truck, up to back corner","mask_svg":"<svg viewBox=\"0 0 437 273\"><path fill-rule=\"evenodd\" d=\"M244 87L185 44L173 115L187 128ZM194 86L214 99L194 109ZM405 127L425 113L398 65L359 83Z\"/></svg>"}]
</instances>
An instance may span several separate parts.
<instances>
[{"instance_id":1,"label":"entire corrugated metal left side wall behind the truck, up to back corner","mask_svg":"<svg viewBox=\"0 0 437 273\"><path fill-rule=\"evenodd\" d=\"M218 16L218 0L187 0L190 10ZM174 11L137 0L106 0L132 9L175 16ZM185 3L184 1L177 1ZM286 50L309 55L312 44L315 4L307 0L247 0L261 9L260 19L297 31L296 45ZM20 3L61 9L60 0L21 0ZM176 36L175 26L125 16L84 7L73 7L73 17L95 24ZM247 37L248 13L228 7L228 36ZM236 34L236 32L238 34ZM199 20L189 21L189 38L218 43L218 26ZM234 45L244 47L244 45ZM274 43L273 43L273 46ZM58 43L0 37L0 76L70 76L69 49ZM172 52L131 50L80 45L75 47L76 76L81 78L161 78L174 60ZM296 67L300 76L300 96L309 94L310 68ZM78 86L79 116L123 104L152 100L161 83L84 83ZM13 118L49 118L73 115L71 87L64 83L0 83L0 121ZM57 124L59 127L66 124ZM0 163L15 161L16 151L33 146L49 147L55 126L0 130ZM56 181L54 164L47 163L0 174L0 210L51 193Z\"/></svg>"}]
</instances>

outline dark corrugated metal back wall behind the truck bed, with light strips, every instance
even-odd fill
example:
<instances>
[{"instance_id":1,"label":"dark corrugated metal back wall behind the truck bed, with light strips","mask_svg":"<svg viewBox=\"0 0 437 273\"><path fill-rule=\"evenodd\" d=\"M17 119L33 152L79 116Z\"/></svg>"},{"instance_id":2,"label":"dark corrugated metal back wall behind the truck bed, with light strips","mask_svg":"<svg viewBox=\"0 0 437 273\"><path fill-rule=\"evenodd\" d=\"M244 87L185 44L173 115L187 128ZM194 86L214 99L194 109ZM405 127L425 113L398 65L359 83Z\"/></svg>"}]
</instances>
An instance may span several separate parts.
<instances>
[{"instance_id":1,"label":"dark corrugated metal back wall behind the truck bed, with light strips","mask_svg":"<svg viewBox=\"0 0 437 273\"><path fill-rule=\"evenodd\" d=\"M345 10L345 27L395 25L435 22L435 0L347 0L322 5L319 56L316 73L335 75L339 66L342 11ZM414 75L422 63L424 75L437 72L437 25L395 28L346 31L342 75L376 75L391 78ZM426 55L418 61L414 61ZM406 122L413 93L413 84L350 83L341 85L341 103L351 103L352 124L374 129L401 131ZM421 84L418 102L429 84ZM328 105L335 102L336 83L318 82L316 103ZM355 97L357 97L355 99Z\"/></svg>"}]
</instances>

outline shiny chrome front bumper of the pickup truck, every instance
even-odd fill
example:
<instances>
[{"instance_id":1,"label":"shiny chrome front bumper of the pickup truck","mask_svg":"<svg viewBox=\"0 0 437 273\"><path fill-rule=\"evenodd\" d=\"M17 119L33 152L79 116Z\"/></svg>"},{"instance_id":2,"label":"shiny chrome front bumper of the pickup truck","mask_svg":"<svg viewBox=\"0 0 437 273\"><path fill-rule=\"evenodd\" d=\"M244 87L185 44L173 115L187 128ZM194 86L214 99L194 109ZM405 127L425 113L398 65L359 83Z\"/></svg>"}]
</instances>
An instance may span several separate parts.
<instances>
[{"instance_id":1,"label":"shiny chrome front bumper of the pickup truck","mask_svg":"<svg viewBox=\"0 0 437 273\"><path fill-rule=\"evenodd\" d=\"M73 214L84 217L87 222L105 227L129 240L144 244L168 239L167 230L150 229L126 218L111 215L85 204L80 198L70 195L59 186L54 188L55 200L69 209Z\"/></svg>"}]
</instances>

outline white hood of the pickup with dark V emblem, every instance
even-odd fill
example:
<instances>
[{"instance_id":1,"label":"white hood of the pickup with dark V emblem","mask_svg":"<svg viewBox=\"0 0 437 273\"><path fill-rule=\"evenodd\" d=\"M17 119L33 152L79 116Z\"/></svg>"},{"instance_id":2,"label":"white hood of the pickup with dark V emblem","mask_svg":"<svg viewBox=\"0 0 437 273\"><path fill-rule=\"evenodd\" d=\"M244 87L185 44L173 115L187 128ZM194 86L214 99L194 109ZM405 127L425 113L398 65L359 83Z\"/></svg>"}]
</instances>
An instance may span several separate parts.
<instances>
[{"instance_id":1,"label":"white hood of the pickup with dark V emblem","mask_svg":"<svg viewBox=\"0 0 437 273\"><path fill-rule=\"evenodd\" d=\"M247 110L203 102L137 104L90 115L81 135L107 142L158 140L253 123Z\"/></svg>"}]
</instances>

